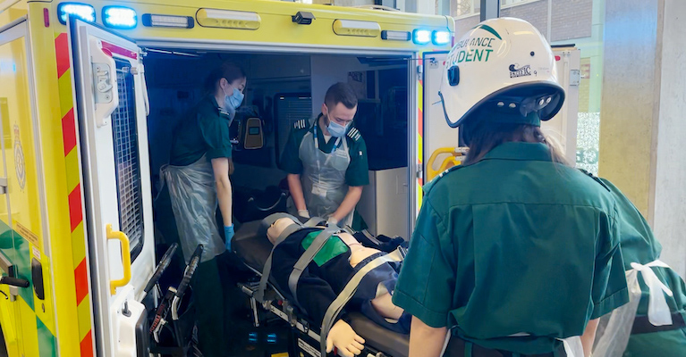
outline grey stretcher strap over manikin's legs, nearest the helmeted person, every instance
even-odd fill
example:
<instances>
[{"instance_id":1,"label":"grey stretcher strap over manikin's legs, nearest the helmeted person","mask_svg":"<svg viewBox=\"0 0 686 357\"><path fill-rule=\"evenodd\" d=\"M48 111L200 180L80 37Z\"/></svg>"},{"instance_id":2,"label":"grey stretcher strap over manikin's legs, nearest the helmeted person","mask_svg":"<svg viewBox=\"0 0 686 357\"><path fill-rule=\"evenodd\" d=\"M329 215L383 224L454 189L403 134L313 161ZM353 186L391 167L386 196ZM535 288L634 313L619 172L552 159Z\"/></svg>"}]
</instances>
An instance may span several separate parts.
<instances>
[{"instance_id":1,"label":"grey stretcher strap over manikin's legs, nearest the helmeted person","mask_svg":"<svg viewBox=\"0 0 686 357\"><path fill-rule=\"evenodd\" d=\"M348 281L348 284L343 287L341 294L339 294L334 302L329 305L324 314L324 320L322 321L322 328L319 334L319 346L321 348L322 356L326 356L326 336L328 336L331 328L334 327L334 323L338 318L338 315L343 311L345 304L350 301L352 295L355 295L362 278L364 278L369 271L374 270L385 262L402 262L403 258L404 256L401 251L396 249L392 253L387 253L368 262L367 265L362 267L352 276L350 281Z\"/></svg>"}]
</instances>

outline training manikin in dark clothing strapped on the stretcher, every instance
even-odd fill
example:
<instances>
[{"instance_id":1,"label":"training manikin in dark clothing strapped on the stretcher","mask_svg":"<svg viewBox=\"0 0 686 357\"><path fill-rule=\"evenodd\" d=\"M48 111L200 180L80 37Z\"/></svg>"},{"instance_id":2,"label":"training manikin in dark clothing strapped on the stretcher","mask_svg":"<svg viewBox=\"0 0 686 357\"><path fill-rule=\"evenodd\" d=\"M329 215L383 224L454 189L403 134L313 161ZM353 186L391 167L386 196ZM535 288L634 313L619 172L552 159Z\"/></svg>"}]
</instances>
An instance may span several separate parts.
<instances>
[{"instance_id":1,"label":"training manikin in dark clothing strapped on the stretcher","mask_svg":"<svg viewBox=\"0 0 686 357\"><path fill-rule=\"evenodd\" d=\"M267 237L272 244L276 238L294 223L290 218L276 220L267 229ZM277 245L272 257L272 277L279 286L288 286L288 278L293 265L309 247L324 227L302 228L288 236ZM313 320L324 319L326 309L334 302L352 275L368 262L385 253L360 244L348 233L336 233L328 238L326 244L315 255L298 281L297 299ZM396 267L390 263L371 270L346 306L360 311L377 324L407 334L410 316L391 302L395 281L398 278ZM326 349L333 347L344 356L360 354L364 339L358 336L346 322L345 310L326 336Z\"/></svg>"}]
</instances>

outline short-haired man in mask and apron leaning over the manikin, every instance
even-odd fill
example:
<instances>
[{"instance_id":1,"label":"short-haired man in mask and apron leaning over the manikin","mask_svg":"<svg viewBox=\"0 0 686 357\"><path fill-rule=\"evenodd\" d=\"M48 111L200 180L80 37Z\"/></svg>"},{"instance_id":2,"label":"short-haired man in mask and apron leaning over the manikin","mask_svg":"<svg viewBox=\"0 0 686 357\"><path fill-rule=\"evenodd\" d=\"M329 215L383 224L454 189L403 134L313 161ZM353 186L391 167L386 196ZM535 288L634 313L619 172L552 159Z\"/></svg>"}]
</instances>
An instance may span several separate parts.
<instances>
[{"instance_id":1,"label":"short-haired man in mask and apron leaning over the manikin","mask_svg":"<svg viewBox=\"0 0 686 357\"><path fill-rule=\"evenodd\" d=\"M353 216L369 176L367 145L352 126L355 112L354 90L336 83L326 90L317 119L312 123L299 120L291 129L281 168L288 172L288 188L298 216L360 227L357 220L353 224Z\"/></svg>"}]
</instances>

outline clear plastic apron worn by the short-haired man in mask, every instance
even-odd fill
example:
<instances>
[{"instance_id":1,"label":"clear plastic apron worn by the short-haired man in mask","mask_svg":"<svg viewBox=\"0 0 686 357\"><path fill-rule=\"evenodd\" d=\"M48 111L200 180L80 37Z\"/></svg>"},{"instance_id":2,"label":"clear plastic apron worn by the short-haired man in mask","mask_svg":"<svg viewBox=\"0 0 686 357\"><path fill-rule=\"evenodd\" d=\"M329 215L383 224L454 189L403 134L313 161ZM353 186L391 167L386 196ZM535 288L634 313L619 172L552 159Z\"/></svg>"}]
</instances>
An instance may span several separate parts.
<instances>
[{"instance_id":1,"label":"clear plastic apron worn by the short-haired man in mask","mask_svg":"<svg viewBox=\"0 0 686 357\"><path fill-rule=\"evenodd\" d=\"M317 126L318 120L314 124L314 133L309 131L305 134L299 148L303 168L302 191L309 216L326 218L334 214L348 193L345 171L348 170L351 157L345 137L336 139L331 154L319 150ZM338 225L350 226L353 212L354 210L340 220Z\"/></svg>"}]
</instances>

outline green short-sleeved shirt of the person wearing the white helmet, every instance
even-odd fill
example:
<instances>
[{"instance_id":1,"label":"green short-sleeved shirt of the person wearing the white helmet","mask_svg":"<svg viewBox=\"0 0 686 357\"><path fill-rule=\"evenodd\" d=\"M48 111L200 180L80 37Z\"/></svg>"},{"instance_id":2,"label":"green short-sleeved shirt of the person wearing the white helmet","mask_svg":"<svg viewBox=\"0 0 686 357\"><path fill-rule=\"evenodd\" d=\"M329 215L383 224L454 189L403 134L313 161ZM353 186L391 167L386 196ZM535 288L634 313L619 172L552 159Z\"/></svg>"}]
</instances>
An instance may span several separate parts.
<instances>
[{"instance_id":1,"label":"green short-sleeved shirt of the person wearing the white helmet","mask_svg":"<svg viewBox=\"0 0 686 357\"><path fill-rule=\"evenodd\" d=\"M425 192L393 300L428 326L549 353L628 301L612 195L546 145L499 145Z\"/></svg>"}]
</instances>

